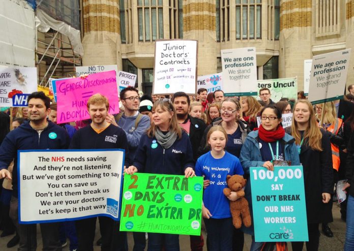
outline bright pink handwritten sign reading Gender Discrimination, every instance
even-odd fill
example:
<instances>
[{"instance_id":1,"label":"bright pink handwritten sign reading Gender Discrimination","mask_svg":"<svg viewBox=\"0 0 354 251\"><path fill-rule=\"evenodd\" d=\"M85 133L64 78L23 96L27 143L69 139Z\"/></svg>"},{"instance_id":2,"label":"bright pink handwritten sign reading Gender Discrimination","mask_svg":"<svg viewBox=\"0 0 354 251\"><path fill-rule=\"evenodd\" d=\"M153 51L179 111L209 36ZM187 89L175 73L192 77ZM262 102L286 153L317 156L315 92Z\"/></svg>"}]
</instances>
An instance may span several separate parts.
<instances>
[{"instance_id":1,"label":"bright pink handwritten sign reading Gender Discrimination","mask_svg":"<svg viewBox=\"0 0 354 251\"><path fill-rule=\"evenodd\" d=\"M86 78L69 78L56 81L57 123L90 118L87 100L100 93L109 101L110 114L119 113L119 99L115 71L100 72Z\"/></svg>"}]
</instances>

